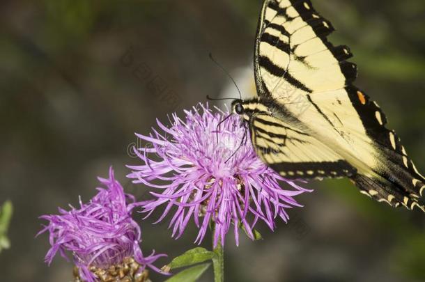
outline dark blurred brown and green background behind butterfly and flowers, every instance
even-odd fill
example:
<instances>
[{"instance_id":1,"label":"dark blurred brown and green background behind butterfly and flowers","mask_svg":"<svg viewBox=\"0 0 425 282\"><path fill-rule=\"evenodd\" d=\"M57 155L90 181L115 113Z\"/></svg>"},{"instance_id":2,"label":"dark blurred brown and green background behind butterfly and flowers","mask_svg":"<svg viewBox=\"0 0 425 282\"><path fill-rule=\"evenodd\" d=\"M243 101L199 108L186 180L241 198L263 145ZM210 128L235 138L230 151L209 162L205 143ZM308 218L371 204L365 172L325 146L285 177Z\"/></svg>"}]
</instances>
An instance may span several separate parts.
<instances>
[{"instance_id":1,"label":"dark blurred brown and green background behind butterfly and flowers","mask_svg":"<svg viewBox=\"0 0 425 282\"><path fill-rule=\"evenodd\" d=\"M313 3L337 29L334 45L355 54L356 85L385 109L425 171L425 1ZM124 165L139 163L128 153L134 132L206 95L238 97L210 52L252 91L260 9L259 0L1 1L0 203L15 205L1 281L71 280L65 260L43 263L49 244L47 235L34 238L38 217L79 195L87 201L110 165L127 191L146 195L125 179ZM297 198L305 207L291 210L288 225L261 226L264 240L239 247L229 235L227 281L425 281L424 214L375 203L346 180L306 186L316 191ZM194 246L194 224L172 240L153 220L142 226L146 253L173 258Z\"/></svg>"}]
</instances>

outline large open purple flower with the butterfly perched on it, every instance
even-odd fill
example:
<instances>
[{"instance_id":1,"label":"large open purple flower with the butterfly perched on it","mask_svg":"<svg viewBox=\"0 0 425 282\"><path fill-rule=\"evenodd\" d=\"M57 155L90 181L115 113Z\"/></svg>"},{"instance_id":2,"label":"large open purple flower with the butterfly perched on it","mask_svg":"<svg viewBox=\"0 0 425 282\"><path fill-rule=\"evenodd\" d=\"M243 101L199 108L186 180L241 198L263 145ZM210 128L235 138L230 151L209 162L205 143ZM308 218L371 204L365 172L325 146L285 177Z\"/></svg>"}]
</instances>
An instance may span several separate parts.
<instances>
[{"instance_id":1,"label":"large open purple flower with the butterfly perched on it","mask_svg":"<svg viewBox=\"0 0 425 282\"><path fill-rule=\"evenodd\" d=\"M214 246L219 238L224 244L231 224L239 244L241 226L254 239L258 219L272 230L277 217L287 222L286 209L301 207L293 196L311 190L281 178L256 156L249 130L238 116L213 113L208 105L199 107L185 111L185 120L173 114L170 128L157 121L162 133L153 130L150 136L137 134L151 145L134 150L143 164L128 166L132 173L127 177L159 190L150 192L155 199L144 203L143 212L148 217L164 205L159 222L176 206L169 224L172 236L183 235L193 218L199 228L198 243L213 221ZM279 182L291 189L282 189Z\"/></svg>"}]
</instances>

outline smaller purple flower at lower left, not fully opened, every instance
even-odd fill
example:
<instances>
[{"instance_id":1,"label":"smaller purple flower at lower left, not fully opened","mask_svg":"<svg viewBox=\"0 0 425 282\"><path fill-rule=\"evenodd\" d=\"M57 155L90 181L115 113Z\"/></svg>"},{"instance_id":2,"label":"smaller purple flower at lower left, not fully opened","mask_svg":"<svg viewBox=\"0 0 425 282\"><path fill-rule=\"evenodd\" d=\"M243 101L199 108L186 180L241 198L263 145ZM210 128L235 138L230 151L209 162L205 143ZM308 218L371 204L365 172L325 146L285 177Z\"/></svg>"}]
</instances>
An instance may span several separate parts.
<instances>
[{"instance_id":1,"label":"smaller purple flower at lower left, not fully opened","mask_svg":"<svg viewBox=\"0 0 425 282\"><path fill-rule=\"evenodd\" d=\"M50 265L58 251L64 258L65 251L71 251L79 278L90 282L99 279L93 273L95 270L100 272L123 263L136 265L137 272L143 272L146 266L160 271L152 263L165 255L153 252L144 257L139 246L141 230L131 214L140 203L124 193L112 168L109 169L109 179L98 179L107 189L98 188L98 194L89 203L82 203L80 199L79 209L72 206L70 211L59 208L59 215L40 217L49 221L49 225L38 233L49 231L52 247L45 257L46 263Z\"/></svg>"}]
</instances>

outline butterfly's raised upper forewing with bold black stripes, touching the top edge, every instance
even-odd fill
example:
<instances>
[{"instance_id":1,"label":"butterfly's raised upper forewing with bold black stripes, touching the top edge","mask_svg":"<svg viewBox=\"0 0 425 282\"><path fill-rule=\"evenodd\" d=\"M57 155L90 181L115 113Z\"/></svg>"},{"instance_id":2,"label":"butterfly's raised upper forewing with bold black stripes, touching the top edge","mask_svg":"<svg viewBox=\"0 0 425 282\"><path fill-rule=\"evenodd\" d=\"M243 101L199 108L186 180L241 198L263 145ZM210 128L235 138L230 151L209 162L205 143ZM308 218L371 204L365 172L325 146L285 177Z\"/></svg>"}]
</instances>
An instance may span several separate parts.
<instances>
[{"instance_id":1,"label":"butterfly's raised upper forewing with bold black stripes, touching the top edge","mask_svg":"<svg viewBox=\"0 0 425 282\"><path fill-rule=\"evenodd\" d=\"M312 93L350 84L356 65L346 61L352 56L348 47L327 41L332 31L310 1L265 1L254 60L258 95L290 102L288 88Z\"/></svg>"}]
</instances>

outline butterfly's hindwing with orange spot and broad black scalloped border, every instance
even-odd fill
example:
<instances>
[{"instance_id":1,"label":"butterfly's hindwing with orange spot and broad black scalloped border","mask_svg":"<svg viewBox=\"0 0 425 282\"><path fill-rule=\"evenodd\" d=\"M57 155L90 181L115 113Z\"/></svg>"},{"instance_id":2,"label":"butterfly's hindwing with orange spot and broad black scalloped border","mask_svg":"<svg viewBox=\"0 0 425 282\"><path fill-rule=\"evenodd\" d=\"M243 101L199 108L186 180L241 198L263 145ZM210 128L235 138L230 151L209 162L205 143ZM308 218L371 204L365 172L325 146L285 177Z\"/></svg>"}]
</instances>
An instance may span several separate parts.
<instances>
[{"instance_id":1,"label":"butterfly's hindwing with orange spot and broad black scalloped border","mask_svg":"<svg viewBox=\"0 0 425 282\"><path fill-rule=\"evenodd\" d=\"M397 207L424 210L419 198L425 185L424 178L395 132L385 125L387 118L378 104L355 86L343 90L311 95L320 111L329 117L332 126L320 119L314 107L309 107L300 120L319 128L314 136L339 152L357 169L351 177L363 194ZM314 117L309 120L308 117Z\"/></svg>"}]
</instances>

